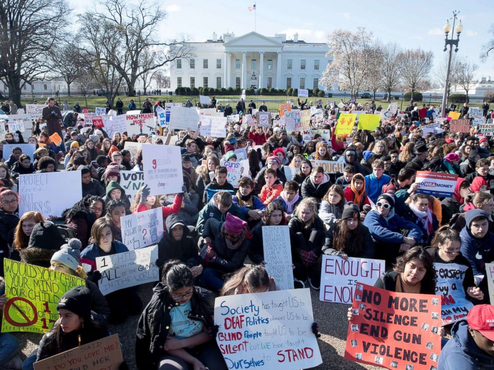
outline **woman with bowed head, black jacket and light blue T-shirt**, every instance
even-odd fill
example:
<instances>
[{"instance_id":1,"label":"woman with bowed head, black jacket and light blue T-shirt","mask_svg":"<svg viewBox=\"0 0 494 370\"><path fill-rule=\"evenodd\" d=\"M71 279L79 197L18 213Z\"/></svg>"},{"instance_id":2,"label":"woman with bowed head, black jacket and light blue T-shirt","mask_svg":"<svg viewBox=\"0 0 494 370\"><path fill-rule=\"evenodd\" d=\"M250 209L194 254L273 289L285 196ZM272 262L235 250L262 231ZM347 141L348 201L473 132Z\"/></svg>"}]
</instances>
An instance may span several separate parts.
<instances>
[{"instance_id":1,"label":"woman with bowed head, black jacket and light blue T-shirt","mask_svg":"<svg viewBox=\"0 0 494 370\"><path fill-rule=\"evenodd\" d=\"M173 260L137 323L137 369L226 370L225 360L208 333L214 325L214 299L194 285L190 269Z\"/></svg>"}]
</instances>

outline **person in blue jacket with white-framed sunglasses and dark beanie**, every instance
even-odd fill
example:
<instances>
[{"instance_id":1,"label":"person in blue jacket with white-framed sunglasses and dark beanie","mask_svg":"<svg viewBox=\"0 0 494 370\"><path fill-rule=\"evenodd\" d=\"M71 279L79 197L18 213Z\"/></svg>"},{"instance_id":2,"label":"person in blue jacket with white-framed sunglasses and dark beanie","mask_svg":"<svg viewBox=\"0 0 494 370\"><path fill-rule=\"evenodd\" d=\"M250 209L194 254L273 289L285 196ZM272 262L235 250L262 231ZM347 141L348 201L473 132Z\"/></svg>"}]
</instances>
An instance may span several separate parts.
<instances>
[{"instance_id":1,"label":"person in blue jacket with white-framed sunglasses and dark beanie","mask_svg":"<svg viewBox=\"0 0 494 370\"><path fill-rule=\"evenodd\" d=\"M375 244L375 258L386 262L386 269L394 264L396 258L413 247L422 232L413 222L394 213L394 196L389 193L377 198L375 209L364 220Z\"/></svg>"}]
</instances>

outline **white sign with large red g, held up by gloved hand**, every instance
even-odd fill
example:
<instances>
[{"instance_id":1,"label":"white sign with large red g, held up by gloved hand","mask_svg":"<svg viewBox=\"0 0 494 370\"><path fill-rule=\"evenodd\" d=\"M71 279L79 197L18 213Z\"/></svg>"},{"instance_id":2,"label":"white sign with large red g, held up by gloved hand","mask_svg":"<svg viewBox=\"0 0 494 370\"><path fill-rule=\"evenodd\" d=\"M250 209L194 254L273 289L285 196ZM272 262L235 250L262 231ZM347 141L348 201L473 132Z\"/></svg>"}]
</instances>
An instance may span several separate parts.
<instances>
[{"instance_id":1,"label":"white sign with large red g, held up by gloved hand","mask_svg":"<svg viewBox=\"0 0 494 370\"><path fill-rule=\"evenodd\" d=\"M144 181L151 190L149 195L182 192L182 155L173 145L142 144Z\"/></svg>"}]
</instances>

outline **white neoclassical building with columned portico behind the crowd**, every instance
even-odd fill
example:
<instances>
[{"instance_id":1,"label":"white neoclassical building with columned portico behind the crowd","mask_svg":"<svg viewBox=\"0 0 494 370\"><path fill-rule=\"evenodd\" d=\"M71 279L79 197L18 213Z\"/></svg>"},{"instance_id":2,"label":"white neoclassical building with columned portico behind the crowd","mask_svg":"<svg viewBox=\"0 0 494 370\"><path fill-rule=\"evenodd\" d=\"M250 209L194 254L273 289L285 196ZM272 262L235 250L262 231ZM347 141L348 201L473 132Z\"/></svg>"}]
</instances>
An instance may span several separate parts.
<instances>
[{"instance_id":1,"label":"white neoclassical building with columned portico behind the crowd","mask_svg":"<svg viewBox=\"0 0 494 370\"><path fill-rule=\"evenodd\" d=\"M236 37L216 33L206 42L191 42L194 57L176 59L170 67L171 90L189 88L314 89L320 85L328 46L285 34L266 37L250 32Z\"/></svg>"}]
</instances>

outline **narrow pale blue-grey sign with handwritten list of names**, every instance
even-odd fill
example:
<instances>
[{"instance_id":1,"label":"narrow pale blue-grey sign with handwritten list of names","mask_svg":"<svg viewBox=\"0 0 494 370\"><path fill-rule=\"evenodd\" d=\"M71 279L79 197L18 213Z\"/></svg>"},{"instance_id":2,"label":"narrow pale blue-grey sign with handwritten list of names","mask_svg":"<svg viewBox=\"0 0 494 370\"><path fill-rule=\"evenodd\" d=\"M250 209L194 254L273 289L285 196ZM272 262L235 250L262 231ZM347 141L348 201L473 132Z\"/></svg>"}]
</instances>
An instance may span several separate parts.
<instances>
[{"instance_id":1,"label":"narrow pale blue-grey sign with handwritten list of names","mask_svg":"<svg viewBox=\"0 0 494 370\"><path fill-rule=\"evenodd\" d=\"M281 289L293 289L292 252L288 226L264 226L262 245L269 276Z\"/></svg>"}]
</instances>

